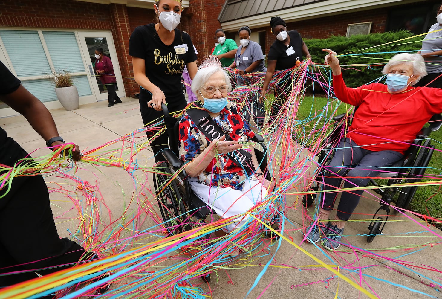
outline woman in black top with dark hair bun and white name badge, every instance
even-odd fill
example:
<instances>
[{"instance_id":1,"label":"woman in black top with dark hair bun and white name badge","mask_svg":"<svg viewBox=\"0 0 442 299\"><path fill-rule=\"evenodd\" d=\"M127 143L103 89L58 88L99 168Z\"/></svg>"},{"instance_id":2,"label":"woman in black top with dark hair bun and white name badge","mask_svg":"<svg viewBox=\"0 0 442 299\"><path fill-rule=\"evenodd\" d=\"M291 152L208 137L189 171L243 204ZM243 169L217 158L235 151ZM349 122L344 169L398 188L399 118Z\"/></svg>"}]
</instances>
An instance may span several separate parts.
<instances>
[{"instance_id":1,"label":"woman in black top with dark hair bun and white name badge","mask_svg":"<svg viewBox=\"0 0 442 299\"><path fill-rule=\"evenodd\" d=\"M291 69L296 65L296 61L302 61L302 54L306 58L312 59L309 49L302 40L301 35L296 30L287 31L286 22L280 17L272 17L270 21L273 34L276 40L270 47L267 55L267 73L264 79L263 90L259 101L262 102L269 87L270 81L275 71ZM271 109L271 117L274 119L278 115L282 105L286 102L286 95L289 94L292 85L291 78L281 80L274 89L275 100Z\"/></svg>"}]
</instances>

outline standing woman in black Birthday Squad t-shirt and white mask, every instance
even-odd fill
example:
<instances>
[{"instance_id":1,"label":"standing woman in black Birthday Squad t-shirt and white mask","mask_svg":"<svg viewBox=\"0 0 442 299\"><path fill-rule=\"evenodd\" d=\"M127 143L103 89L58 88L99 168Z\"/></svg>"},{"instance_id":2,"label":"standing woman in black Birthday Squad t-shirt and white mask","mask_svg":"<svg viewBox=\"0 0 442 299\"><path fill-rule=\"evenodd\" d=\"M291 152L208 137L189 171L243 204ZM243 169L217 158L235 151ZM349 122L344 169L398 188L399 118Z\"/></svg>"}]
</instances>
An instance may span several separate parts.
<instances>
[{"instance_id":1,"label":"standing woman in black Birthday Squad t-shirt and white mask","mask_svg":"<svg viewBox=\"0 0 442 299\"><path fill-rule=\"evenodd\" d=\"M171 112L186 107L181 74L184 66L191 79L197 71L197 57L190 36L175 29L183 9L181 0L156 1L153 8L158 23L135 28L129 42L133 74L141 87L140 111L145 126L162 119L161 103L168 103ZM153 137L157 132L151 130L147 136ZM155 161L161 161L158 153L168 147L167 134L157 136L151 147Z\"/></svg>"}]
</instances>

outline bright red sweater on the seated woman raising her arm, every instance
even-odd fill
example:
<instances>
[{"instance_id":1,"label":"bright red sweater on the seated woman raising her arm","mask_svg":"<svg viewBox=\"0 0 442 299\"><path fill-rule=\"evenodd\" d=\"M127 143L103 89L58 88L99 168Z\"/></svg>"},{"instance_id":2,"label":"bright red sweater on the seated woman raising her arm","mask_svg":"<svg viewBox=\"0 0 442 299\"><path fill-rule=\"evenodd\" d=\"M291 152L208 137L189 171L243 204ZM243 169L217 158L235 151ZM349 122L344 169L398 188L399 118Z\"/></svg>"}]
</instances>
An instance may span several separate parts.
<instances>
[{"instance_id":1,"label":"bright red sweater on the seated woman raising her arm","mask_svg":"<svg viewBox=\"0 0 442 299\"><path fill-rule=\"evenodd\" d=\"M333 88L339 100L359 106L347 136L368 150L404 153L431 116L442 112L442 88L408 87L396 94L380 83L348 88L342 74L333 76Z\"/></svg>"}]
</instances>

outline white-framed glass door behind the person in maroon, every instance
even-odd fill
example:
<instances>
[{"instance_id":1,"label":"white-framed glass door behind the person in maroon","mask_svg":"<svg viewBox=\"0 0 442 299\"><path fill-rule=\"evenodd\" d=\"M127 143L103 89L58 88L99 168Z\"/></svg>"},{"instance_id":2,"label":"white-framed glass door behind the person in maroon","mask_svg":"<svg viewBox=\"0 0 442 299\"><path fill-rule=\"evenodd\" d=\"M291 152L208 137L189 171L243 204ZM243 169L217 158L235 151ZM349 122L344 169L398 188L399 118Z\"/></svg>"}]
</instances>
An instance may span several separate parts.
<instances>
[{"instance_id":1,"label":"white-framed glass door behind the person in maroon","mask_svg":"<svg viewBox=\"0 0 442 299\"><path fill-rule=\"evenodd\" d=\"M126 96L122 75L120 71L120 64L118 62L117 51L115 50L114 39L110 32L97 31L77 31L80 39L83 56L86 59L88 77L91 80L91 85L94 90L97 101L107 100L106 86L101 83L99 77L95 73L95 50L103 49L103 54L110 58L114 66L114 73L117 79L116 91L117 95Z\"/></svg>"}]
</instances>

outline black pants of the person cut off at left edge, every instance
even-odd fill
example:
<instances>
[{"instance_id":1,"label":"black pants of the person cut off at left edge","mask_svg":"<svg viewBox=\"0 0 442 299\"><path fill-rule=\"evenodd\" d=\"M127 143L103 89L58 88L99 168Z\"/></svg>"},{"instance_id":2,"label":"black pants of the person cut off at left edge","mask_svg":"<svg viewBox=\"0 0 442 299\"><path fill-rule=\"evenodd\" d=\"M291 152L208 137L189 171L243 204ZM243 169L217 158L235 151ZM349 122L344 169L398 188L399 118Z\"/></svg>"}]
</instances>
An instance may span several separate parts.
<instances>
[{"instance_id":1,"label":"black pants of the person cut off at left edge","mask_svg":"<svg viewBox=\"0 0 442 299\"><path fill-rule=\"evenodd\" d=\"M0 288L37 278L35 272L47 275L95 258L58 236L42 176L26 178L7 197L0 209ZM19 273L2 276L11 272Z\"/></svg>"}]
</instances>

